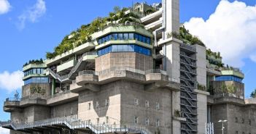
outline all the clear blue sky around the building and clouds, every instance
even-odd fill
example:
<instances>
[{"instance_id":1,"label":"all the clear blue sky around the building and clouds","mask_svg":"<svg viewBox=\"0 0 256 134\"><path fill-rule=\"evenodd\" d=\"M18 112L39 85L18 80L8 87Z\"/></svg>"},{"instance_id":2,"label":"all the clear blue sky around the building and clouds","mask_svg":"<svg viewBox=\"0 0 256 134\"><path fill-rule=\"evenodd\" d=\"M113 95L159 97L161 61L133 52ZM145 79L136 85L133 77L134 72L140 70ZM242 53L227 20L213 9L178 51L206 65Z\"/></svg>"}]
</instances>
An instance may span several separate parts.
<instances>
[{"instance_id":1,"label":"all the clear blue sky around the building and clouds","mask_svg":"<svg viewBox=\"0 0 256 134\"><path fill-rule=\"evenodd\" d=\"M7 0L4 0L7 1ZM38 4L38 2L44 2ZM148 0L152 4L159 0ZM9 0L9 10L1 13L0 9L0 74L22 70L30 59L44 58L46 51L61 42L63 37L82 24L90 23L96 17L104 17L113 7L129 7L132 1L125 0ZM135 2L135 0L133 0ZM233 2L230 0L230 2ZM244 0L247 6L255 6L256 1ZM37 3L37 5L35 5ZM219 0L180 0L180 21L188 22L192 17L208 20L213 14ZM42 7L44 4L45 7ZM1 6L1 2L0 2ZM40 7L41 6L41 7ZM1 8L1 7L0 7ZM36 10L36 8L41 8ZM31 12L36 11L35 14ZM254 20L256 21L256 20ZM199 37L200 38L200 37ZM241 70L246 75L246 97L256 88L254 75L256 64L249 56L242 59ZM8 74L8 73L7 73ZM5 74L6 75L6 74ZM2 112L4 99L13 96L14 91L0 84L0 120L9 119L9 114ZM20 91L20 88L18 89Z\"/></svg>"}]
</instances>

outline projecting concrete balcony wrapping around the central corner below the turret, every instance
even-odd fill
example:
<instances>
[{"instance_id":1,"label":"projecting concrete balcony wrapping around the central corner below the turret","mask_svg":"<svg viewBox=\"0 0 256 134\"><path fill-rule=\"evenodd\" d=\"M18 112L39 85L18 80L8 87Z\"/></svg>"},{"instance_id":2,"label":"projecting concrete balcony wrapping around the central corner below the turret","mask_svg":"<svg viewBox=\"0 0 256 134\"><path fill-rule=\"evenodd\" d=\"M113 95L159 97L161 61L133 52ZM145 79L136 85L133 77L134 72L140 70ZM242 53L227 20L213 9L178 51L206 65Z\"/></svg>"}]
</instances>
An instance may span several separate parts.
<instances>
[{"instance_id":1,"label":"projecting concrete balcony wrapping around the central corner below the turret","mask_svg":"<svg viewBox=\"0 0 256 134\"><path fill-rule=\"evenodd\" d=\"M116 80L131 80L148 88L166 87L179 91L179 79L169 78L163 70L136 70L131 67L112 67L101 72L82 71L71 84L71 91L78 93L84 89L99 91L100 85ZM157 84L155 84L157 83ZM150 85L151 84L151 85Z\"/></svg>"}]
</instances>

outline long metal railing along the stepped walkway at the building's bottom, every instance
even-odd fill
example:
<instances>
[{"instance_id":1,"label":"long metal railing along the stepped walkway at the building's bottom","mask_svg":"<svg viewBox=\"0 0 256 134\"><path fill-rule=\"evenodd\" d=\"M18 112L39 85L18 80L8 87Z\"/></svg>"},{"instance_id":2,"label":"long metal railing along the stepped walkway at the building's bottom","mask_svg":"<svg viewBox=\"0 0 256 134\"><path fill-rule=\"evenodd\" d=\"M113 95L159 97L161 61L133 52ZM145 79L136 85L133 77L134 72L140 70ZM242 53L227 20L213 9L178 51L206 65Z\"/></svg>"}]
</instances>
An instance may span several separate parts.
<instances>
[{"instance_id":1,"label":"long metal railing along the stepped walkway at the building's bottom","mask_svg":"<svg viewBox=\"0 0 256 134\"><path fill-rule=\"evenodd\" d=\"M90 128L93 133L115 133L115 132L131 132L131 133L141 133L141 134L152 134L150 130L148 130L144 126L136 125L136 124L125 124L125 125L93 125L90 121L82 121L79 120L77 115L70 117L58 117L47 120L39 120L36 122L28 122L28 123L15 123L12 121L0 122L0 127L11 126L14 130L24 130L26 128L32 127L44 127L48 125L66 125L69 129L77 129L77 128Z\"/></svg>"}]
</instances>

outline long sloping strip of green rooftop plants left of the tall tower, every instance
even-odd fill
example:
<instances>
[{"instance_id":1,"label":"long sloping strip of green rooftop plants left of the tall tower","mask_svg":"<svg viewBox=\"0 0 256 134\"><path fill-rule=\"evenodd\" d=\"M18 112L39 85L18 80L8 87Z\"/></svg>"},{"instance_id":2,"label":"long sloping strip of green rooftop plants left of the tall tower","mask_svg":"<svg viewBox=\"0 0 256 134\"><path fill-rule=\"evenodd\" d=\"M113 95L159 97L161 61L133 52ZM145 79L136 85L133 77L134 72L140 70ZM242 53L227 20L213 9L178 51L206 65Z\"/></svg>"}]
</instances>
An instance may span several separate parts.
<instances>
[{"instance_id":1,"label":"long sloping strip of green rooftop plants left of the tall tower","mask_svg":"<svg viewBox=\"0 0 256 134\"><path fill-rule=\"evenodd\" d=\"M90 42L93 33L103 30L107 25L111 24L125 24L126 22L138 22L139 16L130 12L125 14L128 8L120 9L120 7L115 7L114 12L109 12L108 17L98 17L93 22L88 25L82 25L77 30L74 30L70 35L66 35L61 43L55 47L53 52L47 52L46 58L53 59L55 56L65 53L77 46L84 43ZM141 23L138 22L140 25ZM142 25L143 26L143 25Z\"/></svg>"}]
</instances>

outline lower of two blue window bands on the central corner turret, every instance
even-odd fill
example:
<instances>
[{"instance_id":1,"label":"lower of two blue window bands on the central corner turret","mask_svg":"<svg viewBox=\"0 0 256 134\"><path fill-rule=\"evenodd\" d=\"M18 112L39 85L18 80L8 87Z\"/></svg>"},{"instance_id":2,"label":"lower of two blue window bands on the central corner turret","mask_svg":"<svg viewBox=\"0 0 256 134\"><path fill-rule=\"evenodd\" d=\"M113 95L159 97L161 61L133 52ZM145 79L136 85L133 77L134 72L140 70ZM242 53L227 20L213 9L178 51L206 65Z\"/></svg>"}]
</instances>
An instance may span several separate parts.
<instances>
[{"instance_id":1,"label":"lower of two blue window bands on the central corner turret","mask_svg":"<svg viewBox=\"0 0 256 134\"><path fill-rule=\"evenodd\" d=\"M142 46L137 46L137 45L112 45L112 46L107 46L104 49L98 50L98 56L108 54L110 52L136 52L139 54L144 54L147 56L151 55L150 49L144 48Z\"/></svg>"}]
</instances>

